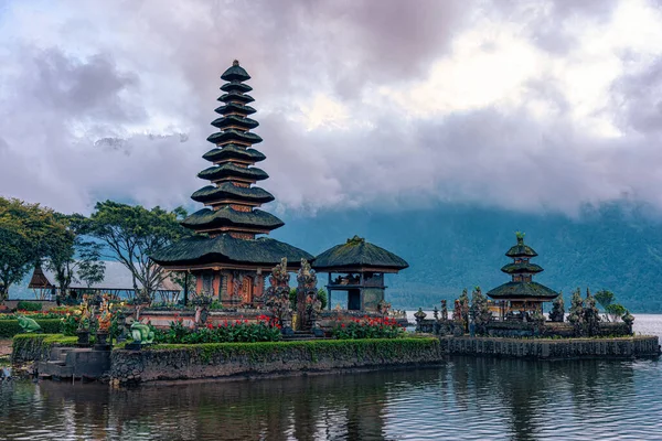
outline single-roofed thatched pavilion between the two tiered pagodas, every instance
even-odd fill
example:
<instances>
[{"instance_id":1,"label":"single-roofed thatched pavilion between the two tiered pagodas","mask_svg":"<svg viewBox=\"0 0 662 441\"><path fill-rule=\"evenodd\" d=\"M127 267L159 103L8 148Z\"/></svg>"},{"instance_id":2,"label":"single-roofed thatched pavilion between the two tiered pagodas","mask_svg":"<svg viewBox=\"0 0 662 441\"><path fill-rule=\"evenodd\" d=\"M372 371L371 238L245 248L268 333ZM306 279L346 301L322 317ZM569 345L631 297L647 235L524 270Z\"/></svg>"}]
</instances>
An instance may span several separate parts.
<instances>
[{"instance_id":1,"label":"single-roofed thatched pavilion between the two tiered pagodas","mask_svg":"<svg viewBox=\"0 0 662 441\"><path fill-rule=\"evenodd\" d=\"M385 273L409 267L403 258L354 236L314 258L312 267L329 273L329 309L334 291L345 291L348 310L377 311L384 302Z\"/></svg>"}]
</instances>

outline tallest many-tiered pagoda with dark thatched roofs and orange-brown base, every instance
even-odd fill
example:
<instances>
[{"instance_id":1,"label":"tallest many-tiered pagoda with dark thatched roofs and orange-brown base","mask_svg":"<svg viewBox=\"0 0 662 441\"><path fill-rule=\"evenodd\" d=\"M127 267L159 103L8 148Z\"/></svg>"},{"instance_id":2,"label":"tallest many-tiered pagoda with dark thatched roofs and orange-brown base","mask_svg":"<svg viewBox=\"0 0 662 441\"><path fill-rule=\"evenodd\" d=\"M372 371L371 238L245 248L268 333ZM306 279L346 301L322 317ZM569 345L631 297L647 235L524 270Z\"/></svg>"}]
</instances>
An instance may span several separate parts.
<instances>
[{"instance_id":1,"label":"tallest many-tiered pagoda with dark thatched roofs and orange-brown base","mask_svg":"<svg viewBox=\"0 0 662 441\"><path fill-rule=\"evenodd\" d=\"M263 139L250 131L258 126L248 118L256 111L248 106L254 101L247 94L253 88L245 84L250 76L235 61L221 78L226 82L218 98L223 105L215 110L221 117L212 122L218 132L207 138L215 147L203 155L213 165L197 174L210 185L191 196L206 207L182 223L195 232L194 236L151 258L166 269L192 272L197 292L212 294L224 304L259 304L264 301L265 276L281 258L298 267L302 258L312 256L291 245L257 237L284 223L259 209L274 196L255 185L269 176L254 166L266 157L253 148Z\"/></svg>"}]
</instances>

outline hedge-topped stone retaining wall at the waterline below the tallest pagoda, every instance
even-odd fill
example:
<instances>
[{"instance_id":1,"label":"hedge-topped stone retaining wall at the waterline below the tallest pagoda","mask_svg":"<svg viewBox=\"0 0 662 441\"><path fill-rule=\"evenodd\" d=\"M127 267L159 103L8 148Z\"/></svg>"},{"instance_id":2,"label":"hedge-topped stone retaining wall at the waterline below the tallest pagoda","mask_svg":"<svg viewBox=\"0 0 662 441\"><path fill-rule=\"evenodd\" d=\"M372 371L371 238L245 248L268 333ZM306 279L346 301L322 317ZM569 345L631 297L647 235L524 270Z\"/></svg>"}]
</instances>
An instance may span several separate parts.
<instances>
[{"instance_id":1,"label":"hedge-topped stone retaining wall at the waterline below the tallest pagoda","mask_svg":"<svg viewBox=\"0 0 662 441\"><path fill-rule=\"evenodd\" d=\"M113 351L111 380L143 383L417 366L442 359L438 338L202 344Z\"/></svg>"}]
</instances>

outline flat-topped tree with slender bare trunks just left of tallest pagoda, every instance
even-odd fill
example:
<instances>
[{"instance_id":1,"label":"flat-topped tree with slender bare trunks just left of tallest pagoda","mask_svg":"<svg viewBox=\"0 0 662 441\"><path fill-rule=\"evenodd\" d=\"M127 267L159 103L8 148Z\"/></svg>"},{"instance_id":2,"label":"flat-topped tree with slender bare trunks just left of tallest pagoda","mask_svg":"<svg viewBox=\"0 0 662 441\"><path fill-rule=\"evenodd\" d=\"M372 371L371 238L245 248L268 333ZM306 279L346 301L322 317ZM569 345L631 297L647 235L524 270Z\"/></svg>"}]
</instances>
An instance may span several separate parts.
<instances>
[{"instance_id":1,"label":"flat-topped tree with slender bare trunks just left of tallest pagoda","mask_svg":"<svg viewBox=\"0 0 662 441\"><path fill-rule=\"evenodd\" d=\"M158 206L147 209L140 205L99 202L90 216L89 234L105 243L113 252L109 257L131 272L136 294L139 282L153 300L153 292L167 271L149 256L191 234L179 223L185 215L181 207L167 212Z\"/></svg>"}]
</instances>

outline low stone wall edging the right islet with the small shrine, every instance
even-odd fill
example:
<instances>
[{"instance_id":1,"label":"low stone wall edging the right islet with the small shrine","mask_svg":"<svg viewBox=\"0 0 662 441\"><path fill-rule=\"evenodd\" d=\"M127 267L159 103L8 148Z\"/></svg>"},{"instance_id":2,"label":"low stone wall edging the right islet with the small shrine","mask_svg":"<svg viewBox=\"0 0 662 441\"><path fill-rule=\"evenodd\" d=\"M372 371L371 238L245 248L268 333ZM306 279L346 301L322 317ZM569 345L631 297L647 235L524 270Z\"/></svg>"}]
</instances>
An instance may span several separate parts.
<instances>
[{"instance_id":1,"label":"low stone wall edging the right islet with the small shrine","mask_svg":"<svg viewBox=\"0 0 662 441\"><path fill-rule=\"evenodd\" d=\"M660 342L656 336L564 340L445 336L439 341L441 352L450 355L575 359L632 358L660 354Z\"/></svg>"}]
</instances>

